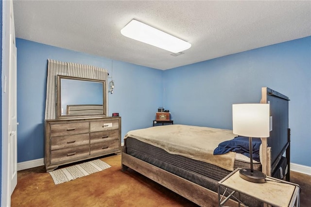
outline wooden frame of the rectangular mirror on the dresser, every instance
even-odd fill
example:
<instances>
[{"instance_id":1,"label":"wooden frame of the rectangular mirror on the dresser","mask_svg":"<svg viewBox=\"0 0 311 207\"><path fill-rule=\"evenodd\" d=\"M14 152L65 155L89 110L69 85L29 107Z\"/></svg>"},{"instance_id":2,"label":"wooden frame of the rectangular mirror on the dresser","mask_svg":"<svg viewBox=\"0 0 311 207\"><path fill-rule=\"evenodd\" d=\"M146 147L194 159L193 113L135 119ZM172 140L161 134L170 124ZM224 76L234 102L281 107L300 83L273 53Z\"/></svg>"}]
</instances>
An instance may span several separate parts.
<instances>
[{"instance_id":1,"label":"wooden frame of the rectangular mirror on the dresser","mask_svg":"<svg viewBox=\"0 0 311 207\"><path fill-rule=\"evenodd\" d=\"M69 79L69 80L79 80L79 81L89 81L89 82L99 82L103 84L103 113L99 114L79 114L79 115L62 115L62 106L61 106L61 80L62 79ZM107 108L107 100L105 94L107 94L106 83L104 80L98 79L88 79L88 78L79 78L79 77L72 77L72 76L65 76L65 75L57 75L57 87L56 87L56 94L57 94L57 102L56 102L56 117L57 119L64 119L64 118L78 118L78 117L106 117L106 108Z\"/></svg>"}]
</instances>

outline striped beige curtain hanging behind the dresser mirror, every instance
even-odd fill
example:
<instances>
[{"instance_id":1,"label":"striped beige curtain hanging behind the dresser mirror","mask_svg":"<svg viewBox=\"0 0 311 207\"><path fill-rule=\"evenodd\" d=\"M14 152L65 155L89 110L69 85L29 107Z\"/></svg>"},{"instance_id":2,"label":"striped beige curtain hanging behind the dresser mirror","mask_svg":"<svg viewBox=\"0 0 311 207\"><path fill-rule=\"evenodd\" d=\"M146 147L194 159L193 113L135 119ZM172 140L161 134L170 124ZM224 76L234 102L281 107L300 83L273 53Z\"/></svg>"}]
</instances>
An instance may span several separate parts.
<instances>
[{"instance_id":1,"label":"striped beige curtain hanging behind the dresser mirror","mask_svg":"<svg viewBox=\"0 0 311 207\"><path fill-rule=\"evenodd\" d=\"M57 75L66 75L76 78L88 78L105 81L107 88L108 71L95 66L82 65L77 63L61 62L48 59L48 77L47 77L47 98L45 106L45 120L56 119L56 83ZM105 93L105 100L108 100L108 94ZM106 103L105 114L108 114L108 101Z\"/></svg>"}]
</instances>

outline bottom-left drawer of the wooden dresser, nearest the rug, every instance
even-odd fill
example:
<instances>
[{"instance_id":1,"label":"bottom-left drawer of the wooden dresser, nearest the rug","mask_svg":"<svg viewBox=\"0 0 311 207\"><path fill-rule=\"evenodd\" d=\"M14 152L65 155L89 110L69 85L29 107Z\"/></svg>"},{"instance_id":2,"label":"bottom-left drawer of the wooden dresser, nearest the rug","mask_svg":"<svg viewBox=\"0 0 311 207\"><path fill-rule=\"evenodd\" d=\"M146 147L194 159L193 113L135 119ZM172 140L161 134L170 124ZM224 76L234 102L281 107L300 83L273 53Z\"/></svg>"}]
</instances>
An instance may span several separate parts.
<instances>
[{"instance_id":1,"label":"bottom-left drawer of the wooden dresser, nearest the rug","mask_svg":"<svg viewBox=\"0 0 311 207\"><path fill-rule=\"evenodd\" d=\"M51 163L66 161L87 155L89 155L89 145L55 150L51 152Z\"/></svg>"}]
</instances>

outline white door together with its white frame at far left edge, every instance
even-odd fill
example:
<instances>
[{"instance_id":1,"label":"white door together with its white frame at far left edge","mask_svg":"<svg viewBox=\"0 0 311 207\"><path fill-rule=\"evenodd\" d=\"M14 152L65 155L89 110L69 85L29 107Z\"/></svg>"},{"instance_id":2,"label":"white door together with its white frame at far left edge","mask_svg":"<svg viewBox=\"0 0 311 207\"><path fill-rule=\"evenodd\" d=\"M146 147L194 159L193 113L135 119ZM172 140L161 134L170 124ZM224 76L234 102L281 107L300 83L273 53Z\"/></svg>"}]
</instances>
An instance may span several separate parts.
<instances>
[{"instance_id":1,"label":"white door together with its white frame at far left edge","mask_svg":"<svg viewBox=\"0 0 311 207\"><path fill-rule=\"evenodd\" d=\"M11 206L11 194L17 185L17 48L15 42L13 0L2 1L2 162L1 206ZM2 15L2 14L1 14Z\"/></svg>"}]
</instances>

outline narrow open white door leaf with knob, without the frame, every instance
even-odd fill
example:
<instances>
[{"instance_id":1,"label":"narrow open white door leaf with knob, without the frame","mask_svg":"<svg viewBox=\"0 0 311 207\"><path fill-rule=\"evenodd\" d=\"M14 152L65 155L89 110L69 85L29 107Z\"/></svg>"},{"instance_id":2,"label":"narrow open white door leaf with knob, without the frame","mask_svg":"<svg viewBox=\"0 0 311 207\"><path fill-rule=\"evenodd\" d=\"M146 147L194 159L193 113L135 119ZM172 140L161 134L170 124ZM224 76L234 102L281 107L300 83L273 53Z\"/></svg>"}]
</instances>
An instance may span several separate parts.
<instances>
[{"instance_id":1,"label":"narrow open white door leaf with knob, without the frame","mask_svg":"<svg viewBox=\"0 0 311 207\"><path fill-rule=\"evenodd\" d=\"M10 62L8 77L8 193L11 196L17 185L17 48L15 42L13 1L10 11Z\"/></svg>"}]
</instances>

